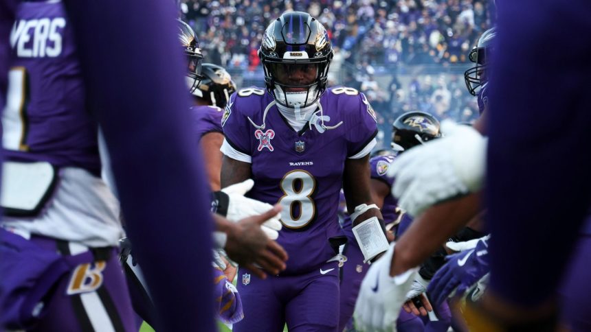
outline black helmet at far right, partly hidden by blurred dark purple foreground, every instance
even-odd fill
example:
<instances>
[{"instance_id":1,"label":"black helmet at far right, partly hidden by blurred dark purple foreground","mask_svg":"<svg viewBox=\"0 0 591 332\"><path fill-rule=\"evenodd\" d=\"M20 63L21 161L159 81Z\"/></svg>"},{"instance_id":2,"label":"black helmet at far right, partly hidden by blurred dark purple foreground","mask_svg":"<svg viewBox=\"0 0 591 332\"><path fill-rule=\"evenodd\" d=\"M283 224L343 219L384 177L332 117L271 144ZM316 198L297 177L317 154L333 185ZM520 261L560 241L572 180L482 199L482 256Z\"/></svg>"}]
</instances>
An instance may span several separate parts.
<instances>
[{"instance_id":1,"label":"black helmet at far right, partly hidden by blurred dark purple foreground","mask_svg":"<svg viewBox=\"0 0 591 332\"><path fill-rule=\"evenodd\" d=\"M486 69L492 56L496 35L497 29L495 27L488 29L482 33L476 47L470 51L469 58L471 62L474 62L474 67L464 72L464 80L471 95L476 95L476 89L487 83Z\"/></svg>"}]
</instances>

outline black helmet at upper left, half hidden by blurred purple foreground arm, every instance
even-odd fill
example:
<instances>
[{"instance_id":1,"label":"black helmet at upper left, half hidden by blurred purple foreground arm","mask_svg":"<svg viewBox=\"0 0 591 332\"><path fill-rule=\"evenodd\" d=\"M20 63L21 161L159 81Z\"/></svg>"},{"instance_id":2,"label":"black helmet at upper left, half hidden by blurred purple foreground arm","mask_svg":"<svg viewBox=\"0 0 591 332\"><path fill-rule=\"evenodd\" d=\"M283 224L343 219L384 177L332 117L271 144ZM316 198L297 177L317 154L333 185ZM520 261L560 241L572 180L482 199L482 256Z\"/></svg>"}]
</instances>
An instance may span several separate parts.
<instances>
[{"instance_id":1,"label":"black helmet at upper left, half hidden by blurred purple foreground arm","mask_svg":"<svg viewBox=\"0 0 591 332\"><path fill-rule=\"evenodd\" d=\"M199 40L197 35L187 23L178 20L179 27L179 42L183 48L183 52L187 56L187 86L189 91L193 93L199 85L199 81L203 79L201 75L201 64L203 63L203 54L199 48Z\"/></svg>"}]
</instances>

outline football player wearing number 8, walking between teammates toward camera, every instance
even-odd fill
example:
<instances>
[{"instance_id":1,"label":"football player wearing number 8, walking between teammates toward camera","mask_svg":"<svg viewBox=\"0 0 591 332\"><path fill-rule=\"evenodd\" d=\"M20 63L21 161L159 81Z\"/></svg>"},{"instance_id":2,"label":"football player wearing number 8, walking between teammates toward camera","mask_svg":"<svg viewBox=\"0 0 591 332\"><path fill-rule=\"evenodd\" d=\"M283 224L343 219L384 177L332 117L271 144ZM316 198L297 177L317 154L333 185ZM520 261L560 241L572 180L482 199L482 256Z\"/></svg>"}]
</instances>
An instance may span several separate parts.
<instances>
[{"instance_id":1,"label":"football player wearing number 8, walking between teammates toward camera","mask_svg":"<svg viewBox=\"0 0 591 332\"><path fill-rule=\"evenodd\" d=\"M344 188L353 232L364 260L388 248L381 213L370 195L369 153L375 112L348 87L328 88L333 57L320 22L286 12L265 30L259 50L265 88L244 88L225 109L222 187L254 178L250 197L278 202L278 242L287 270L265 281L241 268L238 290L245 318L234 331L336 331L338 261L328 239L338 235L337 206Z\"/></svg>"}]
</instances>

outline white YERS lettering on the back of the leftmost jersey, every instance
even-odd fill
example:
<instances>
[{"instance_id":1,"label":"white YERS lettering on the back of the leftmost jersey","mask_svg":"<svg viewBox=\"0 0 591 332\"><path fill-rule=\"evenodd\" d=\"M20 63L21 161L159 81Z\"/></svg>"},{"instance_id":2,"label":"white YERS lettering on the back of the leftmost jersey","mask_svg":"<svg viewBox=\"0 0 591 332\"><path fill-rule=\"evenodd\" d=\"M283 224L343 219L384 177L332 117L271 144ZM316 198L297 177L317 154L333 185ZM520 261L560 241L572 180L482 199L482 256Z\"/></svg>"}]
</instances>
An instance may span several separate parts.
<instances>
[{"instance_id":1,"label":"white YERS lettering on the back of the leftmost jersey","mask_svg":"<svg viewBox=\"0 0 591 332\"><path fill-rule=\"evenodd\" d=\"M14 23L10 45L19 58L55 58L62 53L63 17L21 20Z\"/></svg>"}]
</instances>

